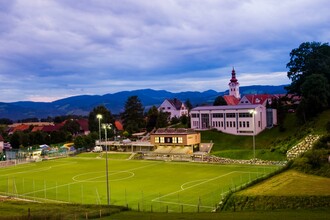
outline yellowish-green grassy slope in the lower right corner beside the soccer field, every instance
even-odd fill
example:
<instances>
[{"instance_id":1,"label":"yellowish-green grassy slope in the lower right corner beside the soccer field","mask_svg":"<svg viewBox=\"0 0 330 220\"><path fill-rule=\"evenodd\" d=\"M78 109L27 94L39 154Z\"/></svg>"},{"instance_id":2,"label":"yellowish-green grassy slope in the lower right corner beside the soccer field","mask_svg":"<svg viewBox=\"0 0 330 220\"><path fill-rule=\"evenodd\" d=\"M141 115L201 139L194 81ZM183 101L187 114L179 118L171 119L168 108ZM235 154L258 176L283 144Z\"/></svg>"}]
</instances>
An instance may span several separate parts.
<instances>
[{"instance_id":1,"label":"yellowish-green grassy slope in the lower right corner beside the soccer field","mask_svg":"<svg viewBox=\"0 0 330 220\"><path fill-rule=\"evenodd\" d=\"M231 195L225 210L330 208L330 179L288 170Z\"/></svg>"}]
</instances>

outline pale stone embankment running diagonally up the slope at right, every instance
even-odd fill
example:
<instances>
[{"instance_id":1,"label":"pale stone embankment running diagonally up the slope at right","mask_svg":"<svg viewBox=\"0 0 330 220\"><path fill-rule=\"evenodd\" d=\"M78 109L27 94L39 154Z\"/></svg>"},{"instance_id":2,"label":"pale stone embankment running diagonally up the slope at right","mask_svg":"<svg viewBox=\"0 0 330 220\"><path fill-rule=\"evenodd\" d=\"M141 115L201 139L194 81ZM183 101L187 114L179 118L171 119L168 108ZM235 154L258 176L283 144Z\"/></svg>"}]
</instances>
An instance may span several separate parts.
<instances>
[{"instance_id":1,"label":"pale stone embankment running diagonally up the slope at right","mask_svg":"<svg viewBox=\"0 0 330 220\"><path fill-rule=\"evenodd\" d=\"M313 144L320 138L319 135L308 135L305 139L297 144L296 146L292 147L290 150L287 151L286 156L288 160L293 160L297 158L299 155L305 153L308 150L311 150Z\"/></svg>"}]
</instances>

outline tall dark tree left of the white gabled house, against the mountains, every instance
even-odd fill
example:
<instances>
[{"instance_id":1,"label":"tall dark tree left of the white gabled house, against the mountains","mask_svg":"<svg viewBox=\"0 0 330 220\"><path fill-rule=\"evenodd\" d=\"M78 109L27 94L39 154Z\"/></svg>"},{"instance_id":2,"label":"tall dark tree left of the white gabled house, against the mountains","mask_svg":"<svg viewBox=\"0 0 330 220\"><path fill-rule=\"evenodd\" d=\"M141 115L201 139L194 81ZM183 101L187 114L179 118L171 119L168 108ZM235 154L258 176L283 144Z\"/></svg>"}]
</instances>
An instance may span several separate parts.
<instances>
[{"instance_id":1,"label":"tall dark tree left of the white gabled house, against the mountains","mask_svg":"<svg viewBox=\"0 0 330 220\"><path fill-rule=\"evenodd\" d=\"M124 129L128 133L139 132L141 128L145 128L143 111L144 107L137 96L128 97L125 103L125 110L121 114Z\"/></svg>"}]
</instances>

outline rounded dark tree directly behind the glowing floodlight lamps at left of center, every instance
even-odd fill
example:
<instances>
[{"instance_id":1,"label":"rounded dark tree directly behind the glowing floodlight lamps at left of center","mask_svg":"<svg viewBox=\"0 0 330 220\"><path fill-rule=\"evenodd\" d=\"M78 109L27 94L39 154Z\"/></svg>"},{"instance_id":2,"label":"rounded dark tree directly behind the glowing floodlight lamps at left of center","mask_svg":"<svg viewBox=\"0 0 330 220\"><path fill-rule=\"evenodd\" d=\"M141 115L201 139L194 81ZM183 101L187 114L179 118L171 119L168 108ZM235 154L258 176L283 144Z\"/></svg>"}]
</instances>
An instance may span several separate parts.
<instances>
[{"instance_id":1,"label":"rounded dark tree directly behind the glowing floodlight lamps at left of center","mask_svg":"<svg viewBox=\"0 0 330 220\"><path fill-rule=\"evenodd\" d=\"M99 132L99 121L96 117L98 114L102 115L101 123L114 124L115 122L113 115L104 105L97 106L88 115L88 126L91 132Z\"/></svg>"}]
</instances>

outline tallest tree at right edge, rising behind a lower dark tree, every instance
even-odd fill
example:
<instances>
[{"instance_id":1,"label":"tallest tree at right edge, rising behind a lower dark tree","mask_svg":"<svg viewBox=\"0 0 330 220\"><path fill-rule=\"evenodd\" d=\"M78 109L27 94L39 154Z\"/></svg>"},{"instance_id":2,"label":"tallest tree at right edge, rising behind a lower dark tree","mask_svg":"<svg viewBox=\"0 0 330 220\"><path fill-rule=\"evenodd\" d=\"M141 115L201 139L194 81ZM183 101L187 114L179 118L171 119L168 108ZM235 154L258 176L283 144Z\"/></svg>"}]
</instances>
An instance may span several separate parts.
<instances>
[{"instance_id":1,"label":"tallest tree at right edge, rising behind a lower dark tree","mask_svg":"<svg viewBox=\"0 0 330 220\"><path fill-rule=\"evenodd\" d=\"M328 43L305 42L290 53L287 64L288 77L292 80L287 87L290 93L301 95L301 86L307 76L322 74L330 82L330 46Z\"/></svg>"}]
</instances>

